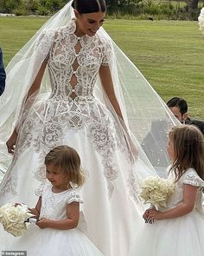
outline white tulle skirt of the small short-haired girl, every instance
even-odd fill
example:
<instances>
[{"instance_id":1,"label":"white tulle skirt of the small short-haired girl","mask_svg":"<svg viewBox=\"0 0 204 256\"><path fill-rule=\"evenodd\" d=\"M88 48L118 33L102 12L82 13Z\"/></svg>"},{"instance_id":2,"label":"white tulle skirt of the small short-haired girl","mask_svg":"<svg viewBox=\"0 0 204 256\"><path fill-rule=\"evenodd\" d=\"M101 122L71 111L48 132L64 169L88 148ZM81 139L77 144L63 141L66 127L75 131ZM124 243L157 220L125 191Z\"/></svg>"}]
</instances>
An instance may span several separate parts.
<instances>
[{"instance_id":1,"label":"white tulle skirt of the small short-haired girl","mask_svg":"<svg viewBox=\"0 0 204 256\"><path fill-rule=\"evenodd\" d=\"M26 251L29 256L103 256L96 246L77 228L73 230L40 229L35 224L10 248Z\"/></svg>"}]
</instances>

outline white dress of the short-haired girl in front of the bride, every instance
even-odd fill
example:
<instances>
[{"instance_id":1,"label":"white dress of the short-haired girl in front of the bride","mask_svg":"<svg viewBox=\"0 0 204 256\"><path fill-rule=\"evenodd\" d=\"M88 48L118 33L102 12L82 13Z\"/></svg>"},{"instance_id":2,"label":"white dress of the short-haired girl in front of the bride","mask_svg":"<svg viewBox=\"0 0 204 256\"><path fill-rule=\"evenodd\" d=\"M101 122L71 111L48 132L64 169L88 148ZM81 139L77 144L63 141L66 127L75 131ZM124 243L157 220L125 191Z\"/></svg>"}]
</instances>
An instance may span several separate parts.
<instances>
[{"instance_id":1,"label":"white dress of the short-haired girl in front of the bride","mask_svg":"<svg viewBox=\"0 0 204 256\"><path fill-rule=\"evenodd\" d=\"M51 186L46 187L41 197L40 219L66 219L67 204L73 201L82 202L80 194L73 188L55 194ZM16 244L11 249L27 251L28 256L103 256L79 228L40 229L35 224L30 224L28 233L16 238Z\"/></svg>"}]
</instances>

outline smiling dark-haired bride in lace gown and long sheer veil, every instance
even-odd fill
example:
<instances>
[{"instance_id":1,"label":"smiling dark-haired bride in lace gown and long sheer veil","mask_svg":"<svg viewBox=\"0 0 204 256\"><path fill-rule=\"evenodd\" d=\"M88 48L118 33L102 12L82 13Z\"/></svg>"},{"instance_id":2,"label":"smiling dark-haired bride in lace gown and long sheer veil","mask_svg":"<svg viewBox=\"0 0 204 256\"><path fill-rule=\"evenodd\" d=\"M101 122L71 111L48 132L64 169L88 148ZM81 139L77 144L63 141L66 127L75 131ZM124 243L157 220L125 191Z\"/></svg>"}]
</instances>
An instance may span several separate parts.
<instances>
[{"instance_id":1,"label":"smiling dark-haired bride in lace gown and long sheer veil","mask_svg":"<svg viewBox=\"0 0 204 256\"><path fill-rule=\"evenodd\" d=\"M101 28L105 11L104 0L67 3L7 67L0 143L13 128L6 143L13 157L8 167L1 148L1 167L8 169L0 204L32 206L46 182L45 155L67 144L79 152L86 172L86 235L106 256L124 256L142 220L139 183L155 174L140 143L151 121L168 116L172 125L173 117ZM12 239L1 238L1 244L6 250Z\"/></svg>"}]
</instances>

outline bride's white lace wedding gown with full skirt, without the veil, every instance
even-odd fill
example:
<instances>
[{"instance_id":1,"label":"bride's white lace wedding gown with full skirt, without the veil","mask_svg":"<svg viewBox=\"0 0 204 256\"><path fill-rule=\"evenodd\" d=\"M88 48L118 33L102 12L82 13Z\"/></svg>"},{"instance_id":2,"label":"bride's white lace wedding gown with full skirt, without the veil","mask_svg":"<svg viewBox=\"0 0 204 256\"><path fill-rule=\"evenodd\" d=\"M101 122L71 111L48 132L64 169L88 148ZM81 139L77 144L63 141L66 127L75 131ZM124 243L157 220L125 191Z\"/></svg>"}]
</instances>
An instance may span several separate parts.
<instances>
[{"instance_id":1,"label":"bride's white lace wedding gown with full skirt, without the veil","mask_svg":"<svg viewBox=\"0 0 204 256\"><path fill-rule=\"evenodd\" d=\"M139 159L132 165L122 129L112 113L93 94L101 65L112 58L107 38L77 37L74 21L47 30L37 43L47 52L52 92L22 112L16 150L0 185L1 204L35 204L35 188L45 182L44 157L49 150L75 148L87 173L82 188L82 211L87 237L106 256L127 255L132 226L141 221L137 172L145 173ZM142 211L141 211L142 210Z\"/></svg>"}]
</instances>

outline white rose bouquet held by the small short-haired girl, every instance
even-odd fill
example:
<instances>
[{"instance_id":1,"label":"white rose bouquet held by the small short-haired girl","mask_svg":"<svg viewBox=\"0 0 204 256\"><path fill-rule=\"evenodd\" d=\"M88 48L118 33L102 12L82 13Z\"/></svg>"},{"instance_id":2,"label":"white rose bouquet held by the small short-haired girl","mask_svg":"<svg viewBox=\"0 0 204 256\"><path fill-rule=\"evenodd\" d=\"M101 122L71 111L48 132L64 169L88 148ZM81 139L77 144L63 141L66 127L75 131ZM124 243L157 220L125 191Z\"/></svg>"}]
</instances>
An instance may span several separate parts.
<instances>
[{"instance_id":1,"label":"white rose bouquet held by the small short-haired girl","mask_svg":"<svg viewBox=\"0 0 204 256\"><path fill-rule=\"evenodd\" d=\"M0 208L0 222L8 233L21 236L28 230L28 219L33 216L25 205L6 204Z\"/></svg>"}]
</instances>

